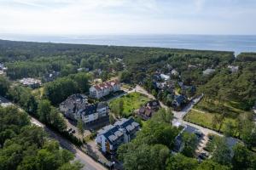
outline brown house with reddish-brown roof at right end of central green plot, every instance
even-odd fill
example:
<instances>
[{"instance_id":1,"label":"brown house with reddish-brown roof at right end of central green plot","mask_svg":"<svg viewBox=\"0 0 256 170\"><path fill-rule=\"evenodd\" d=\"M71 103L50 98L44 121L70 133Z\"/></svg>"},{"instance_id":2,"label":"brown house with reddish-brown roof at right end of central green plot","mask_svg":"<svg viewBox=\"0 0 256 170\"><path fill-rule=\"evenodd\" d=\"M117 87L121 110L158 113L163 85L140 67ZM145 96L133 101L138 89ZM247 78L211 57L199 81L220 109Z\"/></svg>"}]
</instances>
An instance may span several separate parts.
<instances>
[{"instance_id":1,"label":"brown house with reddish-brown roof at right end of central green plot","mask_svg":"<svg viewBox=\"0 0 256 170\"><path fill-rule=\"evenodd\" d=\"M158 100L148 101L145 105L143 105L138 111L137 115L141 116L143 120L148 120L151 118L156 111L160 108L160 102Z\"/></svg>"}]
</instances>

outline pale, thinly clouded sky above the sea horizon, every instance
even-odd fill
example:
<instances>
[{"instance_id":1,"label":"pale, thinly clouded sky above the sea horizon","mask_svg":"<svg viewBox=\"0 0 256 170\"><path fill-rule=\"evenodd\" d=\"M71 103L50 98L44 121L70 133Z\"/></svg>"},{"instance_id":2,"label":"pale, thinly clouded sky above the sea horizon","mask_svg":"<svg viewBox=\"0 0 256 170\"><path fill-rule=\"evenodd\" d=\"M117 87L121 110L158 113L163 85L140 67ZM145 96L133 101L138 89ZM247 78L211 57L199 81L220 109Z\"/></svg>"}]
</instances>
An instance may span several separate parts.
<instances>
[{"instance_id":1,"label":"pale, thinly clouded sky above the sea horizon","mask_svg":"<svg viewBox=\"0 0 256 170\"><path fill-rule=\"evenodd\" d=\"M256 0L0 0L0 33L256 35Z\"/></svg>"}]
</instances>

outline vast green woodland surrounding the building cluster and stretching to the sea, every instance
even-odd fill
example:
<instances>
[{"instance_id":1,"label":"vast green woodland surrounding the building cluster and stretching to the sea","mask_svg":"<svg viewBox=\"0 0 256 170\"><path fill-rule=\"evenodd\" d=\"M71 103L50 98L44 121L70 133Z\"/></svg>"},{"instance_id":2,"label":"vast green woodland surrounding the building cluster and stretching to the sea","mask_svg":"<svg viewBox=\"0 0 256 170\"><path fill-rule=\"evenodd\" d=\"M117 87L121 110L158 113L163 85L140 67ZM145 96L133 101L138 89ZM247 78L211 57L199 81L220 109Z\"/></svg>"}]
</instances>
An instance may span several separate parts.
<instances>
[{"instance_id":1,"label":"vast green woodland surrounding the building cluster and stretching to the sea","mask_svg":"<svg viewBox=\"0 0 256 170\"><path fill-rule=\"evenodd\" d=\"M251 111L256 102L254 53L241 53L235 57L233 52L220 51L0 40L0 62L8 68L7 77L0 76L0 95L78 145L81 141L65 132L64 117L55 106L71 94L88 94L95 79L105 81L111 77L119 77L122 83L131 86L140 84L166 105L172 105L176 94L189 98L204 94L201 102L195 105L195 111L189 112L185 120L242 141L242 144L236 144L231 156L225 138L216 139L212 146L212 159L199 163L193 157L195 136L185 134L183 152L172 156L170 152L180 129L171 126L172 111L160 110L148 122L137 119L143 126L137 138L119 147L118 158L124 162L125 169L256 168L253 152L256 127ZM178 72L177 76L171 76L172 92L155 88L156 72L169 74L170 67ZM237 69L232 70L235 67ZM203 71L207 69L214 72L206 76ZM58 77L43 82L42 87L35 90L16 83L23 77L43 80L52 72L58 72ZM178 82L189 88L183 90ZM195 91L192 92L193 87ZM131 103L126 100L126 103ZM123 105L126 106L125 102ZM134 108L133 105L128 106L125 108L127 113L123 115L131 116L129 111ZM26 113L15 108L1 108L0 114L0 169L79 169L79 163L68 163L73 160L72 154L59 149L59 145L49 140L42 129L32 126ZM207 116L211 120L204 122ZM35 133L38 133L36 137L40 141L32 138ZM19 153L18 159L16 155L10 156L14 150ZM44 157L49 159L44 160ZM11 164L11 161L15 163Z\"/></svg>"}]
</instances>

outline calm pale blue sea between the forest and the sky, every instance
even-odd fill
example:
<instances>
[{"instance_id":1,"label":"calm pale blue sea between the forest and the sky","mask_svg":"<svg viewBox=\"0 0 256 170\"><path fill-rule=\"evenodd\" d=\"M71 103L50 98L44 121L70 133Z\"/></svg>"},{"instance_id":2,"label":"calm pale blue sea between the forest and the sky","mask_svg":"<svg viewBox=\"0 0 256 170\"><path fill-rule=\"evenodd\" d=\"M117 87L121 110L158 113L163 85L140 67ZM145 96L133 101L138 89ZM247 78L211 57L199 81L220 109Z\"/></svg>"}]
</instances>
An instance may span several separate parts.
<instances>
[{"instance_id":1,"label":"calm pale blue sea between the forest and the sky","mask_svg":"<svg viewBox=\"0 0 256 170\"><path fill-rule=\"evenodd\" d=\"M256 35L0 35L0 39L30 42L220 50L233 51L235 54L256 52Z\"/></svg>"}]
</instances>

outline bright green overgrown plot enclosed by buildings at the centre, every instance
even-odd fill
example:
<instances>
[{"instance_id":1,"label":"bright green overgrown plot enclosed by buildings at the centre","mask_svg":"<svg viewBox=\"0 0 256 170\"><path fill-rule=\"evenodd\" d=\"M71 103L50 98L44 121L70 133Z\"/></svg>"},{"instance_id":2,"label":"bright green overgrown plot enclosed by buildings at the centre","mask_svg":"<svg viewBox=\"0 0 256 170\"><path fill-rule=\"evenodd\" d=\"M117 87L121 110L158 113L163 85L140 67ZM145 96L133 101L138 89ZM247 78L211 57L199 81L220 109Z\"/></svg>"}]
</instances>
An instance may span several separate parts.
<instances>
[{"instance_id":1,"label":"bright green overgrown plot enclosed by buildings at the centre","mask_svg":"<svg viewBox=\"0 0 256 170\"><path fill-rule=\"evenodd\" d=\"M121 116L131 116L132 111L137 110L141 107L141 105L144 105L147 101L149 101L148 97L134 92L131 94L126 94L118 99L113 99L110 103L109 103L109 107L110 110L113 111L114 114L118 115L118 107L119 107L119 102L123 100L124 102L124 110Z\"/></svg>"}]
</instances>

